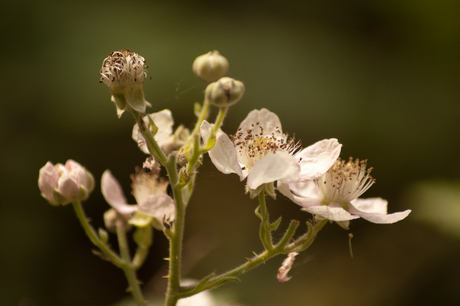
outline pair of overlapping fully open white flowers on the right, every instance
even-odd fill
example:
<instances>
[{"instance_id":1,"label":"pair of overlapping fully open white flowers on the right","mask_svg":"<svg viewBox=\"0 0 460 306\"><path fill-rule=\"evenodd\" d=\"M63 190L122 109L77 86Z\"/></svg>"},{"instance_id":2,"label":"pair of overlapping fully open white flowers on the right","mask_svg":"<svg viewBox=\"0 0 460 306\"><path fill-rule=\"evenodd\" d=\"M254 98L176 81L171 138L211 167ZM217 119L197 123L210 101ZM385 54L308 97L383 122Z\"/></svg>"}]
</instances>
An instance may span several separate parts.
<instances>
[{"instance_id":1,"label":"pair of overlapping fully open white flowers on the right","mask_svg":"<svg viewBox=\"0 0 460 306\"><path fill-rule=\"evenodd\" d=\"M211 129L203 122L204 139ZM283 133L278 116L267 109L250 112L235 135L220 130L216 137L209 157L219 171L247 178L249 190L276 181L282 194L315 216L347 227L349 220L359 217L394 223L410 213L387 214L387 201L358 199L375 182L366 161L341 160L342 145L333 138L302 149L301 142Z\"/></svg>"}]
</instances>

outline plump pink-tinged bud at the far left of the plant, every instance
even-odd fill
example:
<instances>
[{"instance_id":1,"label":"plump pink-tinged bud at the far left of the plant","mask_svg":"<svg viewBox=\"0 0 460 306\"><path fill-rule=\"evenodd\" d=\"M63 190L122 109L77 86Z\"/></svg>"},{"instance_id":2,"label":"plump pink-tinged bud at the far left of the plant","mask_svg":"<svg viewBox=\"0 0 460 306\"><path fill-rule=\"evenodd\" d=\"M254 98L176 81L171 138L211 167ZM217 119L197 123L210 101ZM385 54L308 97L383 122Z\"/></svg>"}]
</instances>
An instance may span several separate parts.
<instances>
[{"instance_id":1,"label":"plump pink-tinged bud at the far left of the plant","mask_svg":"<svg viewBox=\"0 0 460 306\"><path fill-rule=\"evenodd\" d=\"M76 200L86 200L94 189L94 178L73 160L69 159L65 165L47 162L40 169L38 187L50 204L65 205Z\"/></svg>"}]
</instances>

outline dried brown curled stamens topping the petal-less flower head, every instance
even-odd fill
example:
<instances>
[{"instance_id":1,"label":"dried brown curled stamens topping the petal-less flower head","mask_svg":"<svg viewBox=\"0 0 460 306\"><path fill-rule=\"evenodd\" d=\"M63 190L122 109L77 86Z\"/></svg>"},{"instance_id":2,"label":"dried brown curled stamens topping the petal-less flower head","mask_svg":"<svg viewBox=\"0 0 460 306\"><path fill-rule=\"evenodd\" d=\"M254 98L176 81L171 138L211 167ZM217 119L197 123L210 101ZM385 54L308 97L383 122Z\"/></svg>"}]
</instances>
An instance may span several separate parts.
<instances>
[{"instance_id":1,"label":"dried brown curled stamens topping the petal-less flower head","mask_svg":"<svg viewBox=\"0 0 460 306\"><path fill-rule=\"evenodd\" d=\"M107 86L123 87L132 83L142 83L147 76L145 59L129 50L113 51L102 63L99 82Z\"/></svg>"}]
</instances>

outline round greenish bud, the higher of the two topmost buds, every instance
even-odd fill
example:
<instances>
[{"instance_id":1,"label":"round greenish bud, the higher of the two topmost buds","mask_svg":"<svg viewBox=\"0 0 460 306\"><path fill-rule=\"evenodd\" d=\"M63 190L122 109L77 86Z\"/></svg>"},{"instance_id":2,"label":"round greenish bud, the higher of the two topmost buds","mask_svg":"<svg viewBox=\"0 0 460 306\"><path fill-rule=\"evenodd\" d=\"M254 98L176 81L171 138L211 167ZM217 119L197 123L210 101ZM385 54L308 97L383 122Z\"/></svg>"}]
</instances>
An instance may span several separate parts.
<instances>
[{"instance_id":1,"label":"round greenish bud, the higher of the two topmost buds","mask_svg":"<svg viewBox=\"0 0 460 306\"><path fill-rule=\"evenodd\" d=\"M214 50L198 56L192 68L197 77L211 83L227 74L228 61L217 50Z\"/></svg>"}]
</instances>

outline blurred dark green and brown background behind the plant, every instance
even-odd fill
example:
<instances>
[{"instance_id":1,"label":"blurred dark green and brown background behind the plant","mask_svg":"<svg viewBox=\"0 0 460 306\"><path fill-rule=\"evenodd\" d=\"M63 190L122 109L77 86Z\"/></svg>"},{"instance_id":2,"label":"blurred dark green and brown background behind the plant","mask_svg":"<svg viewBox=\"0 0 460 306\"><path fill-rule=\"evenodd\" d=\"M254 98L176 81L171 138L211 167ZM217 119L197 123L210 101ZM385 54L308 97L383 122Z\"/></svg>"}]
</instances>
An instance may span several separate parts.
<instances>
[{"instance_id":1,"label":"blurred dark green and brown background behind the plant","mask_svg":"<svg viewBox=\"0 0 460 306\"><path fill-rule=\"evenodd\" d=\"M377 183L367 197L393 225L335 224L297 257L280 284L278 257L213 293L233 305L460 304L460 2L442 1L3 1L0 110L0 300L2 305L114 305L120 270L91 254L71 207L39 195L38 170L72 158L99 181L111 169L129 194L145 156L133 119L117 119L98 71L112 50L139 51L150 66L152 111L194 124L204 84L194 58L217 49L246 85L224 130L252 109L277 113L304 145L335 137L342 156L367 158ZM85 202L94 226L108 209L100 185ZM130 198L132 199L132 198ZM206 157L187 220L185 273L200 278L260 251L256 201L236 175ZM309 216L282 195L272 217ZM280 234L281 235L281 234ZM167 241L157 232L139 278L161 295Z\"/></svg>"}]
</instances>

